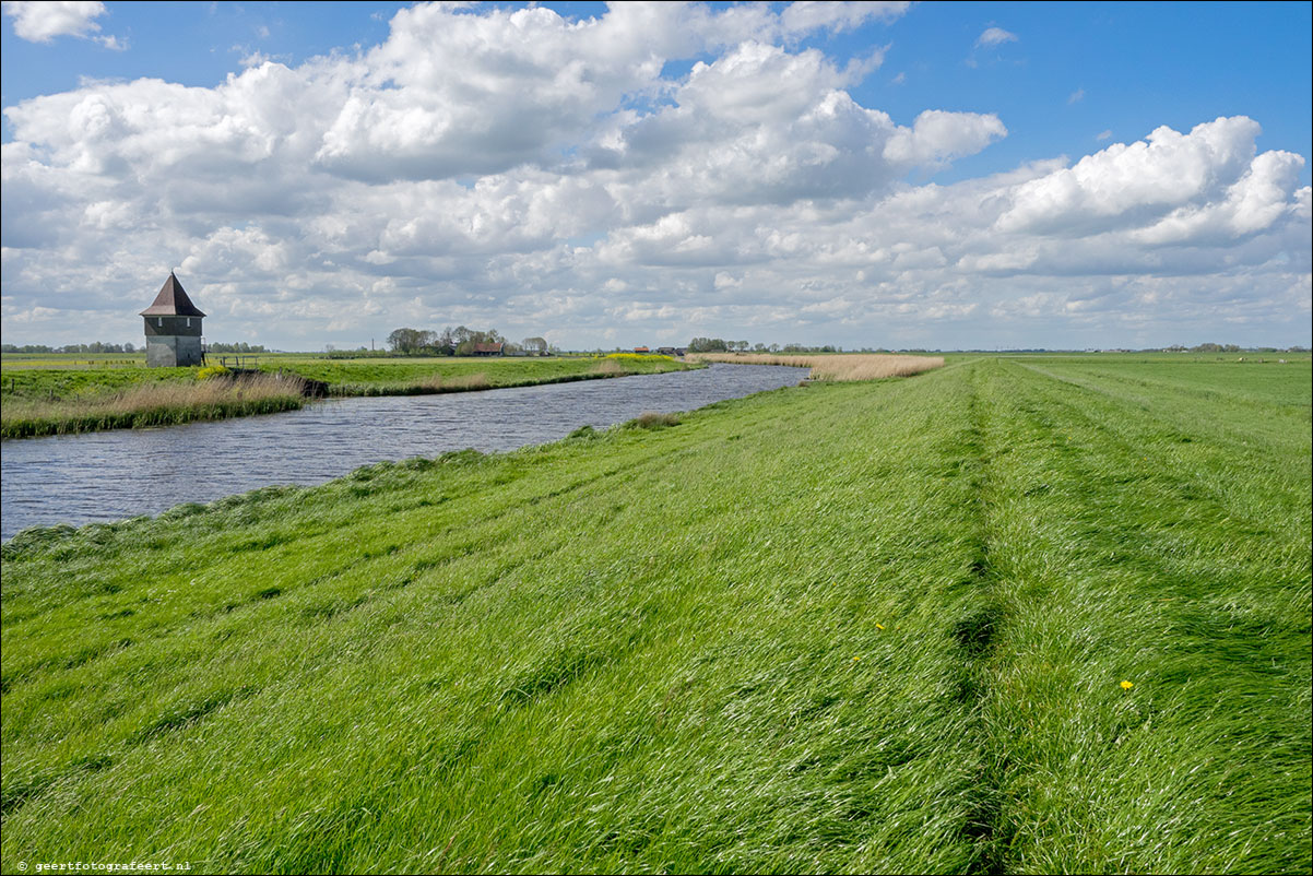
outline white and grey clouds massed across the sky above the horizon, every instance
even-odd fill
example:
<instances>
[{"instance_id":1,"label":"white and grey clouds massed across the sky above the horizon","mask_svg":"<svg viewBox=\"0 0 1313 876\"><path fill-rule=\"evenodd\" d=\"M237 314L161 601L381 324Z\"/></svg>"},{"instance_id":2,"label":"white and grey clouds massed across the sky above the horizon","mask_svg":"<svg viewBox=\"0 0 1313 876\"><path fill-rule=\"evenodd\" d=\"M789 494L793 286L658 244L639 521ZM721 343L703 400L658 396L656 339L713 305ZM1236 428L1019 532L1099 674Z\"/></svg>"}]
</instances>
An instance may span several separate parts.
<instances>
[{"instance_id":1,"label":"white and grey clouds massed across the sky above the horizon","mask_svg":"<svg viewBox=\"0 0 1313 876\"><path fill-rule=\"evenodd\" d=\"M25 39L96 35L102 4L55 5L5 14ZM1230 116L926 181L1004 120L899 125L852 95L882 46L801 46L893 34L907 5L421 4L377 46L253 58L213 88L22 100L5 340L135 340L176 268L214 339L285 348L457 323L567 348L1308 343L1304 156Z\"/></svg>"}]
</instances>

